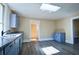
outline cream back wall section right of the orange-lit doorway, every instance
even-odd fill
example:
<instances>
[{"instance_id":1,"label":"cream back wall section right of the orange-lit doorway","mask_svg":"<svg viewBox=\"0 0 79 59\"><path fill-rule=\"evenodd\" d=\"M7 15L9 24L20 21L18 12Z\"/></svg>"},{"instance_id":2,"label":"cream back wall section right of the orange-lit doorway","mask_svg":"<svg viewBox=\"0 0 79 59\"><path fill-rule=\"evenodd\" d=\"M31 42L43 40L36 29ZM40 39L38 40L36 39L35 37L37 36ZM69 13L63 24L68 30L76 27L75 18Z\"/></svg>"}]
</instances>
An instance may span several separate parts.
<instances>
[{"instance_id":1,"label":"cream back wall section right of the orange-lit doorway","mask_svg":"<svg viewBox=\"0 0 79 59\"><path fill-rule=\"evenodd\" d=\"M52 20L40 21L40 41L53 40L52 34L55 31L55 24Z\"/></svg>"}]
</instances>

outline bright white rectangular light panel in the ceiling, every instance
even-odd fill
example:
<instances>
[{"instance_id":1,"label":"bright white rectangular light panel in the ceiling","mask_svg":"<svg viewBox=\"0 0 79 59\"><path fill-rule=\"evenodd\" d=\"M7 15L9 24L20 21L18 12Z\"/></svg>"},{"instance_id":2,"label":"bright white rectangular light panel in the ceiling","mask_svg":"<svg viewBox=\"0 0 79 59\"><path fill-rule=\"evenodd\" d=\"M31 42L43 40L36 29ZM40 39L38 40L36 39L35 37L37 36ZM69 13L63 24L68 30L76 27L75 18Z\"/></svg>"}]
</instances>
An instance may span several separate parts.
<instances>
[{"instance_id":1,"label":"bright white rectangular light panel in the ceiling","mask_svg":"<svg viewBox=\"0 0 79 59\"><path fill-rule=\"evenodd\" d=\"M60 9L61 7L55 6L55 5L50 5L50 4L42 4L40 6L40 9L43 11L49 11L49 12L56 12Z\"/></svg>"}]
</instances>

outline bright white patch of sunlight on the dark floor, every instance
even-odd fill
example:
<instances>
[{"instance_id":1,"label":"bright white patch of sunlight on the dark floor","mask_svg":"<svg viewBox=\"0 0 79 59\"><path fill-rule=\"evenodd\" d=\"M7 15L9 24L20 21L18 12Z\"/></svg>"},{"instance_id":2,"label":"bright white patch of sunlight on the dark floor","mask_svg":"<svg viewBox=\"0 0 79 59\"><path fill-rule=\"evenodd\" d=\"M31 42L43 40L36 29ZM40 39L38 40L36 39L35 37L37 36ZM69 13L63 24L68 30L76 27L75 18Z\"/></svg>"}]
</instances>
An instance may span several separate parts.
<instances>
[{"instance_id":1,"label":"bright white patch of sunlight on the dark floor","mask_svg":"<svg viewBox=\"0 0 79 59\"><path fill-rule=\"evenodd\" d=\"M52 55L52 54L56 54L56 53L60 52L58 49L56 49L53 46L44 47L44 48L41 48L41 49L46 55Z\"/></svg>"}]
</instances>

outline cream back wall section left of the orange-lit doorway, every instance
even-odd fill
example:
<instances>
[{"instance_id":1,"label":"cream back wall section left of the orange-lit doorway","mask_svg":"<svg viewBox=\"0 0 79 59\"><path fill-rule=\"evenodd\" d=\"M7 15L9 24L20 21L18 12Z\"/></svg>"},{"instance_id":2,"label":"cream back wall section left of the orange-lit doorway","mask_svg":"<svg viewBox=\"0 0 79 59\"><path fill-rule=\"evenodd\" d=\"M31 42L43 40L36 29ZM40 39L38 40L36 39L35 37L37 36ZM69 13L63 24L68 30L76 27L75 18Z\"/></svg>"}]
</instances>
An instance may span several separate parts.
<instances>
[{"instance_id":1,"label":"cream back wall section left of the orange-lit doorway","mask_svg":"<svg viewBox=\"0 0 79 59\"><path fill-rule=\"evenodd\" d=\"M20 17L20 25L19 25L19 31L24 32L24 42L30 41L30 24L29 19L25 17Z\"/></svg>"}]
</instances>

